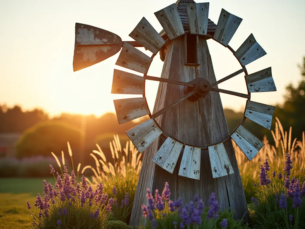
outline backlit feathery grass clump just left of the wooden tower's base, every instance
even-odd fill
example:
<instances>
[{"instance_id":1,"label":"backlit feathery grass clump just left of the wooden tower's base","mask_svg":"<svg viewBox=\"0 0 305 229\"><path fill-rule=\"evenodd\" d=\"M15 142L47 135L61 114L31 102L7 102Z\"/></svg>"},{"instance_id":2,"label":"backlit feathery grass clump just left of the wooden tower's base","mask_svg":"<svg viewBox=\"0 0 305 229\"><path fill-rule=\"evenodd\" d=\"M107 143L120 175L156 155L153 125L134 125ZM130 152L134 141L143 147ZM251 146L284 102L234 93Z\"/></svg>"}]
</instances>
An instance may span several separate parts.
<instances>
[{"instance_id":1,"label":"backlit feathery grass clump just left of the wooden tower's base","mask_svg":"<svg viewBox=\"0 0 305 229\"><path fill-rule=\"evenodd\" d=\"M103 183L104 190L109 194L109 197L115 198L116 204L113 205L115 218L128 224L142 166L140 160L142 154L139 154L131 141L127 141L125 148L122 148L118 135L113 137L114 140L109 143L113 163L107 162L102 149L96 144L98 150L93 150L93 153L90 154L95 160L96 168L87 165L81 173L84 173L86 169L93 171L92 181L87 179L88 183L92 187L96 187L100 182ZM113 187L115 187L115 192ZM127 193L129 196L128 205L124 202Z\"/></svg>"}]
</instances>

